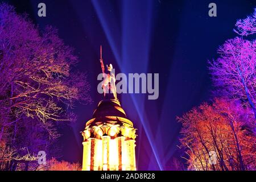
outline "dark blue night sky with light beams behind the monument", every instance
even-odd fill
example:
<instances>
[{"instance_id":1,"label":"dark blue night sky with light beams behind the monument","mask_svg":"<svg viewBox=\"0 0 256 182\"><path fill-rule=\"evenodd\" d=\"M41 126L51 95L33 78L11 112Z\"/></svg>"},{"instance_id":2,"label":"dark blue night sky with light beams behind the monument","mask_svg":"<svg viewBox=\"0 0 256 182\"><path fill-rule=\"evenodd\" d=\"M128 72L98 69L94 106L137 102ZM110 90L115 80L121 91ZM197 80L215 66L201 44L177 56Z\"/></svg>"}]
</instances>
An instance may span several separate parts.
<instances>
[{"instance_id":1,"label":"dark blue night sky with light beams behind the monument","mask_svg":"<svg viewBox=\"0 0 256 182\"><path fill-rule=\"evenodd\" d=\"M253 13L256 1L5 1L26 12L43 29L55 26L66 44L75 48L91 84L93 103L77 104L77 122L61 131L61 159L82 160L86 121L102 100L97 75L101 72L100 45L105 64L119 73L159 73L159 98L147 94L118 95L127 118L137 128L136 158L139 170L172 169L180 158L180 123L176 116L212 98L207 60L217 58L217 48L233 38L237 19ZM46 3L39 17L38 3ZM217 17L208 16L208 5L217 5Z\"/></svg>"}]
</instances>

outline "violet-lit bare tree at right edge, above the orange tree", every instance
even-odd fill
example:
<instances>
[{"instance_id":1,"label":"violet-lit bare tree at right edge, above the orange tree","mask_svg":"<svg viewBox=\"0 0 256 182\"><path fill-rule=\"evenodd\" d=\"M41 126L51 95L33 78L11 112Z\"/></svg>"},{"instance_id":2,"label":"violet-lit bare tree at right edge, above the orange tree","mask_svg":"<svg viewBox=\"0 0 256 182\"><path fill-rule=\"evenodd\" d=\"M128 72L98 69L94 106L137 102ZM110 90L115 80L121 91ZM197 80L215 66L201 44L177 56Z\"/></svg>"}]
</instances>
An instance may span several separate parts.
<instances>
[{"instance_id":1,"label":"violet-lit bare tree at right edge, above the orange tree","mask_svg":"<svg viewBox=\"0 0 256 182\"><path fill-rule=\"evenodd\" d=\"M218 48L220 57L209 62L210 73L219 96L243 101L256 118L256 9L253 15L237 20L234 32L240 36Z\"/></svg>"}]
</instances>

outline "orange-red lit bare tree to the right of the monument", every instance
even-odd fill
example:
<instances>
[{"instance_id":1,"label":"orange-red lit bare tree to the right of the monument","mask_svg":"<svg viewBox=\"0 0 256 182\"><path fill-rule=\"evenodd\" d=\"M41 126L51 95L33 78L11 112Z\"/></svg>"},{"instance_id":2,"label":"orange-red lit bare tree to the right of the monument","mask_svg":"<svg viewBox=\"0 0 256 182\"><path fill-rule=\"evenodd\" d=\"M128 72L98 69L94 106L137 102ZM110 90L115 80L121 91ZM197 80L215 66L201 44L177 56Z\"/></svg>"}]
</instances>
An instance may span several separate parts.
<instances>
[{"instance_id":1,"label":"orange-red lit bare tree to the right of the monument","mask_svg":"<svg viewBox=\"0 0 256 182\"><path fill-rule=\"evenodd\" d=\"M181 147L191 170L255 170L254 114L224 99L202 104L177 120L182 123ZM210 152L216 164L209 162Z\"/></svg>"}]
</instances>

